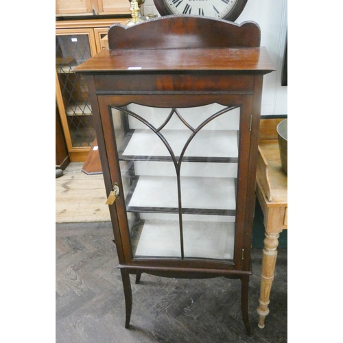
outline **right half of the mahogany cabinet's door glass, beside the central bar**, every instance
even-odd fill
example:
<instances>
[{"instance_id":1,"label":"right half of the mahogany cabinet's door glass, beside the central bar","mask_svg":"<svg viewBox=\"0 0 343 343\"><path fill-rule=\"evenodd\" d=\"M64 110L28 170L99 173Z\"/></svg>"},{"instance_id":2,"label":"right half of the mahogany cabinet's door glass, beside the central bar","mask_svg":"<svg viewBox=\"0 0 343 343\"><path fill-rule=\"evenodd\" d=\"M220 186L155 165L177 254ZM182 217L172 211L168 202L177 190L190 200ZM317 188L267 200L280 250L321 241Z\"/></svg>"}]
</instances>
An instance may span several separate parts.
<instances>
[{"instance_id":1,"label":"right half of the mahogany cabinet's door glass, beside the central bar","mask_svg":"<svg viewBox=\"0 0 343 343\"><path fill-rule=\"evenodd\" d=\"M189 109L188 109L189 110ZM180 110L182 115L182 110ZM198 110L189 111L189 119ZM193 128L185 155L204 163L179 161L184 257L232 260L235 241L239 108L206 108ZM186 117L182 115L182 117ZM187 171L182 172L182 169ZM197 169L195 171L195 169ZM189 205L191 204L191 209Z\"/></svg>"}]
</instances>

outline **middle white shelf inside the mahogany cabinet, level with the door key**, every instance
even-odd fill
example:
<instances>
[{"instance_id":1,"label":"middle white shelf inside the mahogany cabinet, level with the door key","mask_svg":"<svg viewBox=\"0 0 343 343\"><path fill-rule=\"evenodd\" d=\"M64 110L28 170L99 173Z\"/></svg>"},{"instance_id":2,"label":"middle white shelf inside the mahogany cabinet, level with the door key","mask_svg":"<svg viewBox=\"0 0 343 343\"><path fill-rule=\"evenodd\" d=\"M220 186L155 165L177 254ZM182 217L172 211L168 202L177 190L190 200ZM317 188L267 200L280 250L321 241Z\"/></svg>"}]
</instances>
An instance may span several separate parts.
<instances>
[{"instance_id":1,"label":"middle white shelf inside the mahogany cabinet, level with the door key","mask_svg":"<svg viewBox=\"0 0 343 343\"><path fill-rule=\"evenodd\" d=\"M182 213L235 216L235 178L181 177ZM126 211L178 213L178 187L173 176L135 176Z\"/></svg>"}]
</instances>

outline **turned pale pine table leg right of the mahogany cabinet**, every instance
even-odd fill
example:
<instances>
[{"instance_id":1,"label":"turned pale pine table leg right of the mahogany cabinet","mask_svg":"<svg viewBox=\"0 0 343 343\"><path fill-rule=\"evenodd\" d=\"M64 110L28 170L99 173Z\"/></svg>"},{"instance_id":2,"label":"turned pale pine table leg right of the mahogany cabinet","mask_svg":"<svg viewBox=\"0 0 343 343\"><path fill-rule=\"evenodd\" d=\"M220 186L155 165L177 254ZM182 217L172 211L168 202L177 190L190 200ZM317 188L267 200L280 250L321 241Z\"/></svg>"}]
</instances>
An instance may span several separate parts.
<instances>
[{"instance_id":1,"label":"turned pale pine table leg right of the mahogany cabinet","mask_svg":"<svg viewBox=\"0 0 343 343\"><path fill-rule=\"evenodd\" d=\"M279 245L279 233L265 233L264 248L261 269L261 291L259 298L259 328L263 329L265 316L269 314L270 290L274 279L274 271L277 257L277 246Z\"/></svg>"}]
</instances>

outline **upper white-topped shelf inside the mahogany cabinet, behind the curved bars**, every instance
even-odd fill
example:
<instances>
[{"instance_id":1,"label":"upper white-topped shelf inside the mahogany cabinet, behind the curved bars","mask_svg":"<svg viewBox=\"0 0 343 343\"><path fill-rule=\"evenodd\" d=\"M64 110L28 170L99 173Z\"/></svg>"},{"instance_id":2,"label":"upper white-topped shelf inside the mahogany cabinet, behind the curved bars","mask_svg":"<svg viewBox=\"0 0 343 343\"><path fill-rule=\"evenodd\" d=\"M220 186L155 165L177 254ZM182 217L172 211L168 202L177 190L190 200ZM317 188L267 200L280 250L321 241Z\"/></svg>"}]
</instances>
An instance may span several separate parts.
<instances>
[{"instance_id":1,"label":"upper white-topped shelf inside the mahogany cabinet, behind the curved bars","mask_svg":"<svg viewBox=\"0 0 343 343\"><path fill-rule=\"evenodd\" d=\"M188 130L164 130L176 158L180 156L190 133ZM118 151L121 161L172 161L161 139L152 130L128 130ZM237 163L238 139L236 130L200 130L193 138L182 161Z\"/></svg>"}]
</instances>

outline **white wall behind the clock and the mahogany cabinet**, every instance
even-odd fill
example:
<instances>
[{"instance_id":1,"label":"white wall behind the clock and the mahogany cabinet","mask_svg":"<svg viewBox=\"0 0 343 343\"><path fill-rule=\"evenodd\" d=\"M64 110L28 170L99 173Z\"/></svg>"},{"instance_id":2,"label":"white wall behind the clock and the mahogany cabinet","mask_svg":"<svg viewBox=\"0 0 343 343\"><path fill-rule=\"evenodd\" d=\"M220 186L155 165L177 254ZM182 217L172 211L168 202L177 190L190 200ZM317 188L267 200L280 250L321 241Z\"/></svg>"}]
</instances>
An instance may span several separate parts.
<instances>
[{"instance_id":1,"label":"white wall behind the clock and the mahogany cabinet","mask_svg":"<svg viewBox=\"0 0 343 343\"><path fill-rule=\"evenodd\" d=\"M143 13L145 16L158 14L153 0L145 0ZM287 115L287 86L281 86L287 36L287 0L248 0L235 22L244 21L259 24L261 46L266 47L276 67L276 71L264 78L261 115Z\"/></svg>"}]
</instances>

